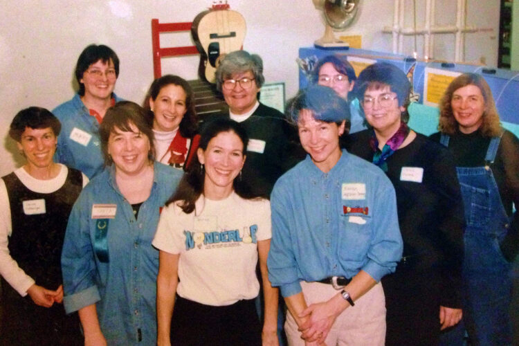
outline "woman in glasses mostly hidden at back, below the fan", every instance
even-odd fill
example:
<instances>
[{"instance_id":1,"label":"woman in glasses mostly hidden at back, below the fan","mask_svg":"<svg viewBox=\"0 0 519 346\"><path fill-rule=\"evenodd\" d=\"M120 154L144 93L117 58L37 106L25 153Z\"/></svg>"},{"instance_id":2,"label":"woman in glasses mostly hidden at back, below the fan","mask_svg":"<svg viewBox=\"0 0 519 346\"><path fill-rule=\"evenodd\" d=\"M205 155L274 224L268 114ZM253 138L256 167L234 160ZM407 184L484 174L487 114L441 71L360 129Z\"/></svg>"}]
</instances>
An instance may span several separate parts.
<instances>
[{"instance_id":1,"label":"woman in glasses mostly hidden at back, below the fan","mask_svg":"<svg viewBox=\"0 0 519 346\"><path fill-rule=\"evenodd\" d=\"M353 66L349 64L345 56L341 55L327 55L322 57L316 64L316 68L313 69L312 82L313 84L319 84L328 86L343 99L349 100L349 115L351 120L349 121L349 131L345 133L353 134L354 132L362 131L367 128L365 118L361 112L361 106L358 104L358 100L354 97L352 91L355 80L355 70Z\"/></svg>"}]
</instances>

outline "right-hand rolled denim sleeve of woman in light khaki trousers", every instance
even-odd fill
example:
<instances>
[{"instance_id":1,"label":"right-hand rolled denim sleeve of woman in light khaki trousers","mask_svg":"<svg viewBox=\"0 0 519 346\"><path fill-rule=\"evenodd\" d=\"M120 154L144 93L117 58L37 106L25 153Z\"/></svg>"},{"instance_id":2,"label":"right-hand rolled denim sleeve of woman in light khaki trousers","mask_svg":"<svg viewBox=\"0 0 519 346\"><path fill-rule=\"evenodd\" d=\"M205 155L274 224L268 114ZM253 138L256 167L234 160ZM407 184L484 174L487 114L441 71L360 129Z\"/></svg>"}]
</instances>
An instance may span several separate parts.
<instances>
[{"instance_id":1,"label":"right-hand rolled denim sleeve of woman in light khaki trousers","mask_svg":"<svg viewBox=\"0 0 519 346\"><path fill-rule=\"evenodd\" d=\"M373 184L374 190L374 222L370 249L367 252L367 263L363 271L376 281L384 275L393 273L403 253L403 241L397 214L397 197L389 179L381 177Z\"/></svg>"}]
</instances>

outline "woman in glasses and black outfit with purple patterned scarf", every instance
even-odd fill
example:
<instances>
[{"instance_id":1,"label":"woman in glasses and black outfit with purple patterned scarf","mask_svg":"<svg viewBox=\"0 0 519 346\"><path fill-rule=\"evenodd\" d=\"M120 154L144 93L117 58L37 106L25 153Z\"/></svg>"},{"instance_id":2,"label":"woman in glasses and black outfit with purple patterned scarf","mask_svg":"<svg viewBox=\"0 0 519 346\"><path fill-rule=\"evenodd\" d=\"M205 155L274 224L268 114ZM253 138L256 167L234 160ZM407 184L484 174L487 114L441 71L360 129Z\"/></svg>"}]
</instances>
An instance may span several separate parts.
<instances>
[{"instance_id":1,"label":"woman in glasses and black outfit with purple patterned scarf","mask_svg":"<svg viewBox=\"0 0 519 346\"><path fill-rule=\"evenodd\" d=\"M382 279L386 345L437 345L440 329L462 318L463 203L453 158L406 124L410 91L392 64L363 70L355 93L372 129L347 149L381 167L397 192L403 257Z\"/></svg>"}]
</instances>

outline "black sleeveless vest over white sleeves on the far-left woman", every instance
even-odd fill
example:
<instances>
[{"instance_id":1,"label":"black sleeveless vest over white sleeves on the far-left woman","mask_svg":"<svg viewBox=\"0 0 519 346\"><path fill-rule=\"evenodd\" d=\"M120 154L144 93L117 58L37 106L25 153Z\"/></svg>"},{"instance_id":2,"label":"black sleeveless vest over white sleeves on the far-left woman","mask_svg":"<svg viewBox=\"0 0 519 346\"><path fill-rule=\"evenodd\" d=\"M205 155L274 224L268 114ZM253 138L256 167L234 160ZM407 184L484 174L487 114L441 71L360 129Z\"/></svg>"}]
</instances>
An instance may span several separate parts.
<instances>
[{"instance_id":1,"label":"black sleeveless vest over white sleeves on the far-left woman","mask_svg":"<svg viewBox=\"0 0 519 346\"><path fill-rule=\"evenodd\" d=\"M82 174L69 168L62 187L49 194L29 190L14 172L2 179L6 183L11 210L10 255L36 284L57 289L62 284L61 253L66 224L82 190ZM41 199L45 213L26 215L24 201Z\"/></svg>"}]
</instances>

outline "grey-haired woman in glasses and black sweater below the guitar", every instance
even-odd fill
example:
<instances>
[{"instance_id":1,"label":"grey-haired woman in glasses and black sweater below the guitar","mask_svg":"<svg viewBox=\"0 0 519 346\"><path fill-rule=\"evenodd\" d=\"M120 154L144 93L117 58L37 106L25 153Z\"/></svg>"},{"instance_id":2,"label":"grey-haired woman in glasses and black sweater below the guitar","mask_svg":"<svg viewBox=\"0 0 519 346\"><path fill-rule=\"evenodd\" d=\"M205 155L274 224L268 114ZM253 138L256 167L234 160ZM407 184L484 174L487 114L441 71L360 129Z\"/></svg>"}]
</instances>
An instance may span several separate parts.
<instances>
[{"instance_id":1,"label":"grey-haired woman in glasses and black sweater below the guitar","mask_svg":"<svg viewBox=\"0 0 519 346\"><path fill-rule=\"evenodd\" d=\"M257 100L265 81L262 58L246 51L229 53L217 72L217 89L229 106L228 116L240 122L250 138L244 176L259 194L268 196L275 181L298 161L293 156L295 131L280 111ZM304 156L301 156L301 158Z\"/></svg>"}]
</instances>

